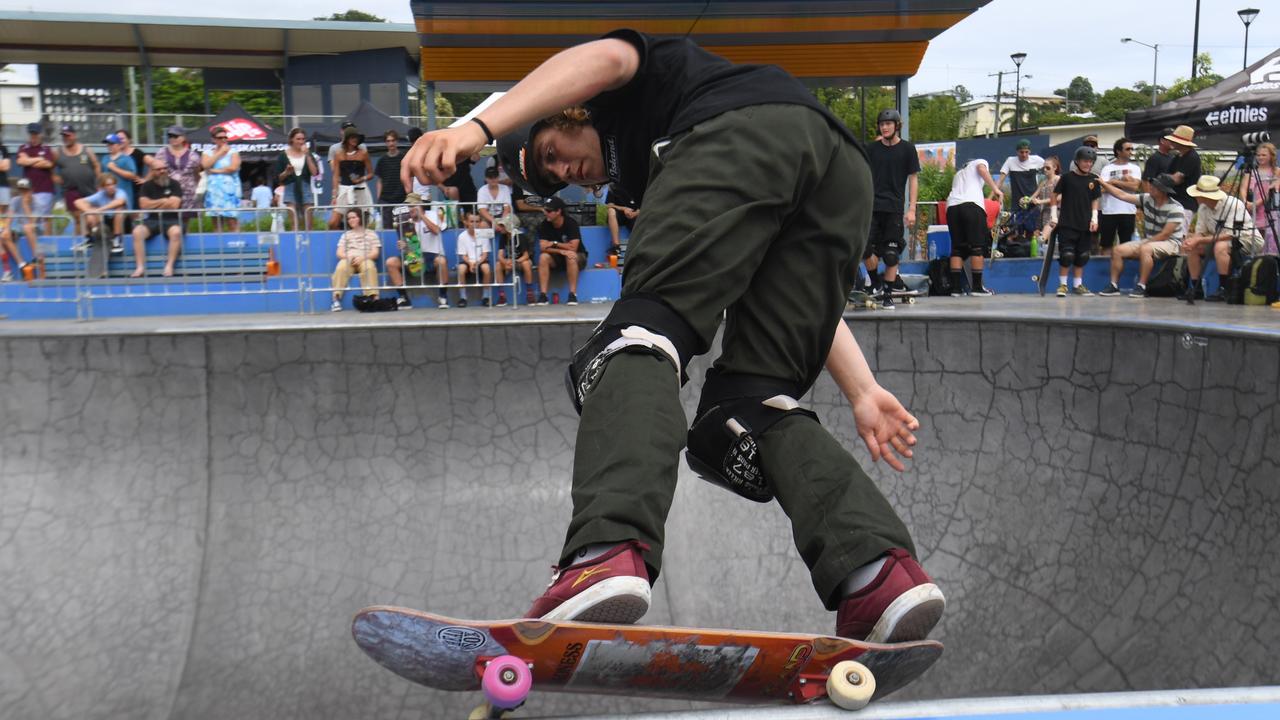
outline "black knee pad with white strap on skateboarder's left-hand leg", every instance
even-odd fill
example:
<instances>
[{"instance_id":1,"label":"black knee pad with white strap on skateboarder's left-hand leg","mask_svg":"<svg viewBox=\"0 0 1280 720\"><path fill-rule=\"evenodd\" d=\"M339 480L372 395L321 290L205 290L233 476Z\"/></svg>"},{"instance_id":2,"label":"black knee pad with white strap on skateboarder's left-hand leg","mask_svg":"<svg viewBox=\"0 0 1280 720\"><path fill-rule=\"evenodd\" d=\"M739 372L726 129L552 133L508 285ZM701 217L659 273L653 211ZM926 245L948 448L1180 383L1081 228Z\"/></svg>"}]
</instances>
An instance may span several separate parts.
<instances>
[{"instance_id":1,"label":"black knee pad with white strap on skateboarder's left-hand leg","mask_svg":"<svg viewBox=\"0 0 1280 720\"><path fill-rule=\"evenodd\" d=\"M707 346L684 318L657 297L635 295L618 300L586 343L573 352L564 370L564 387L580 415L582 401L600 380L609 357L618 352L669 361L677 383L684 386L689 382L685 368L694 355L707 352Z\"/></svg>"}]
</instances>

